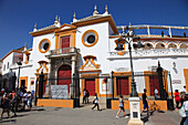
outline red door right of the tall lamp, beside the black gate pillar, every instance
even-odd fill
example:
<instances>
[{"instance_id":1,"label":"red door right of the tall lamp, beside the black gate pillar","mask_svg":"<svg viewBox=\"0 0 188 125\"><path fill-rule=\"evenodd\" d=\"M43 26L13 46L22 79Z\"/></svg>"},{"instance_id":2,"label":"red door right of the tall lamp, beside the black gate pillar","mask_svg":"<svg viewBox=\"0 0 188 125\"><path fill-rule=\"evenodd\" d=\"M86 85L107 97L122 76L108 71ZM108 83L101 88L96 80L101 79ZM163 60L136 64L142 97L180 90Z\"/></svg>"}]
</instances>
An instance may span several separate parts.
<instances>
[{"instance_id":1,"label":"red door right of the tall lamp, beside the black gate pillar","mask_svg":"<svg viewBox=\"0 0 188 125\"><path fill-rule=\"evenodd\" d=\"M154 94L154 88L156 87L158 91L158 95L160 94L159 92L159 83L158 83L158 76L149 76L149 87L150 87L150 95Z\"/></svg>"}]
</instances>

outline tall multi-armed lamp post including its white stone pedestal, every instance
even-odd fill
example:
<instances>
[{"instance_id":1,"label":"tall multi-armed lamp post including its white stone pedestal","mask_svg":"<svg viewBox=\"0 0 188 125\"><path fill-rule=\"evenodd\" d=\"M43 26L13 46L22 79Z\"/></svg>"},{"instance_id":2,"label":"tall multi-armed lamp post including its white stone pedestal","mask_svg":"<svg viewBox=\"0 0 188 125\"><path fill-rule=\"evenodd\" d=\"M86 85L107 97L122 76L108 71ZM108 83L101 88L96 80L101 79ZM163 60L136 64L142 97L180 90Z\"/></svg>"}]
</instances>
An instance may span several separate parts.
<instances>
[{"instance_id":1,"label":"tall multi-armed lamp post including its white stone pedestal","mask_svg":"<svg viewBox=\"0 0 188 125\"><path fill-rule=\"evenodd\" d=\"M133 69L133 59L132 59L132 42L134 39L139 40L139 38L136 38L133 30L126 28L127 32L125 33L123 29L123 33L121 34L121 39L118 39L117 48L115 50L122 51L124 50L123 43L128 43L128 51L129 51L129 61L130 61L130 71L132 71L132 92L129 100L129 106L130 106L130 119L128 122L128 125L144 125L144 123L140 121L140 105L139 105L139 97L138 93L136 91L136 82L134 77L134 69ZM144 48L144 45L138 42L134 45L135 48Z\"/></svg>"}]
</instances>

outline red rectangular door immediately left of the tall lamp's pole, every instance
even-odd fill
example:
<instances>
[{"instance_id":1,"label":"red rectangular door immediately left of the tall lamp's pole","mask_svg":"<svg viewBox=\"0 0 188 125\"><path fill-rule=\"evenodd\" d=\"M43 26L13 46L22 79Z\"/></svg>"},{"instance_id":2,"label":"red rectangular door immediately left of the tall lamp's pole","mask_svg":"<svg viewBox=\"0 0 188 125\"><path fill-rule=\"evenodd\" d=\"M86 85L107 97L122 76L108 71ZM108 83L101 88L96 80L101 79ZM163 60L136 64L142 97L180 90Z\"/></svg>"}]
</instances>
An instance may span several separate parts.
<instances>
[{"instance_id":1,"label":"red rectangular door immediately left of the tall lamp's pole","mask_svg":"<svg viewBox=\"0 0 188 125\"><path fill-rule=\"evenodd\" d=\"M128 77L117 77L117 95L129 95Z\"/></svg>"}]
</instances>

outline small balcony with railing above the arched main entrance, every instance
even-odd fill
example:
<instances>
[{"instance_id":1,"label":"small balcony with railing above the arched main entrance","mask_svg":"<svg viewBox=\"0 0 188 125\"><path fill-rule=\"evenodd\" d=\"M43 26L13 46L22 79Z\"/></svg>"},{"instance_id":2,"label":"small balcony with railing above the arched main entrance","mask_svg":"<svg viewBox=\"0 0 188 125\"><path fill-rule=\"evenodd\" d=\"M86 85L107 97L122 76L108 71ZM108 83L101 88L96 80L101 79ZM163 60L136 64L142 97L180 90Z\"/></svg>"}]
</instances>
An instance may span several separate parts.
<instances>
[{"instance_id":1,"label":"small balcony with railing above the arched main entrance","mask_svg":"<svg viewBox=\"0 0 188 125\"><path fill-rule=\"evenodd\" d=\"M80 52L79 49L76 48L65 48L65 49L56 49L50 51L49 55L46 58L60 58L60 56L72 56L75 55Z\"/></svg>"}]
</instances>

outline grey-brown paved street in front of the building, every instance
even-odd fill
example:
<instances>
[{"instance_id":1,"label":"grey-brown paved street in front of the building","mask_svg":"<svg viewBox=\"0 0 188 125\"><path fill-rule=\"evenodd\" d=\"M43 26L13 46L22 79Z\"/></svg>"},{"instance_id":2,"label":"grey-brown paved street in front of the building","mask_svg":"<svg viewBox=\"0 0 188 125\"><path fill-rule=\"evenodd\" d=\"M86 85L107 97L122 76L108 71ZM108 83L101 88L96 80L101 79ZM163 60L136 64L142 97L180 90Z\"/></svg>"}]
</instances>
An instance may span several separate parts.
<instances>
[{"instance_id":1,"label":"grey-brown paved street in front of the building","mask_svg":"<svg viewBox=\"0 0 188 125\"><path fill-rule=\"evenodd\" d=\"M7 118L4 114L4 118L0 118L0 125L126 125L128 118L116 119L116 112L105 108L98 112L84 107L34 107L32 112L18 113L18 117ZM180 121L178 111L154 112L149 117L144 114L142 118L145 125L178 125Z\"/></svg>"}]
</instances>

